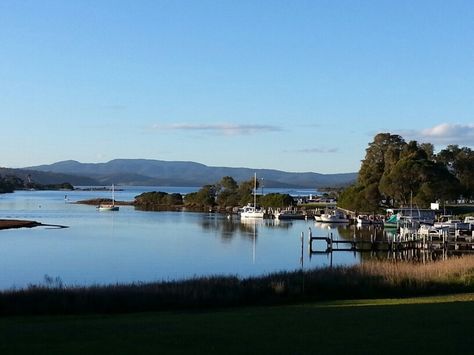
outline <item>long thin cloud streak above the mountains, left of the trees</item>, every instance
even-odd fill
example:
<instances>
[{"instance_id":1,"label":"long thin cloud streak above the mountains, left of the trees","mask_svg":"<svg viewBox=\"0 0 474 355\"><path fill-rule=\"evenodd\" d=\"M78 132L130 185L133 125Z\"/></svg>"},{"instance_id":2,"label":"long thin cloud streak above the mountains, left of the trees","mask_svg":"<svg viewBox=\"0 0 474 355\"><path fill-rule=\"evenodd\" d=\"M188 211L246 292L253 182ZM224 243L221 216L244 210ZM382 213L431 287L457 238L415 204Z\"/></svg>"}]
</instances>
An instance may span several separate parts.
<instances>
[{"instance_id":1,"label":"long thin cloud streak above the mountains, left of the trees","mask_svg":"<svg viewBox=\"0 0 474 355\"><path fill-rule=\"evenodd\" d=\"M189 123L174 123L170 125L155 124L152 127L155 130L172 130L172 131L201 131L209 133L217 133L223 135L247 135L255 133L279 132L282 131L280 127L271 125L245 125L245 124L189 124Z\"/></svg>"}]
</instances>

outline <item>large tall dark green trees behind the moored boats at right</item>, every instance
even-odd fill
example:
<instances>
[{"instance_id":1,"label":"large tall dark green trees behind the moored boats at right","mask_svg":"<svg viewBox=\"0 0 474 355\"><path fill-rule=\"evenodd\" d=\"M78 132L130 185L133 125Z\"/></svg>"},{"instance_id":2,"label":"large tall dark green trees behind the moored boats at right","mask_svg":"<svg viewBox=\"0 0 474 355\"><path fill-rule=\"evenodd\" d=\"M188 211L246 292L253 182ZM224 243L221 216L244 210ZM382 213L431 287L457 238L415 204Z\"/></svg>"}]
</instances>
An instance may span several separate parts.
<instances>
[{"instance_id":1,"label":"large tall dark green trees behind the moored boats at right","mask_svg":"<svg viewBox=\"0 0 474 355\"><path fill-rule=\"evenodd\" d=\"M431 202L474 197L474 152L449 145L434 153L431 143L405 142L379 133L366 149L357 182L345 189L338 205L353 211L380 207L428 207Z\"/></svg>"}]
</instances>

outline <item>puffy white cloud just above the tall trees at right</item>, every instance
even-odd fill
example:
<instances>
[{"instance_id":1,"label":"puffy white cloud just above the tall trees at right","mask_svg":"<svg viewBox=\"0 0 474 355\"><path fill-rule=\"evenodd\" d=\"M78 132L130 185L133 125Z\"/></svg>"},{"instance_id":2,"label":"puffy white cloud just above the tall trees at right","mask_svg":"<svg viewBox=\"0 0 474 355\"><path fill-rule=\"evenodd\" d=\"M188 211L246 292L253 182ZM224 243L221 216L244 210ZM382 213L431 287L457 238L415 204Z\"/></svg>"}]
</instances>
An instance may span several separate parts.
<instances>
[{"instance_id":1,"label":"puffy white cloud just above the tall trees at right","mask_svg":"<svg viewBox=\"0 0 474 355\"><path fill-rule=\"evenodd\" d=\"M442 123L419 131L400 131L399 134L405 140L474 146L474 124Z\"/></svg>"}]
</instances>

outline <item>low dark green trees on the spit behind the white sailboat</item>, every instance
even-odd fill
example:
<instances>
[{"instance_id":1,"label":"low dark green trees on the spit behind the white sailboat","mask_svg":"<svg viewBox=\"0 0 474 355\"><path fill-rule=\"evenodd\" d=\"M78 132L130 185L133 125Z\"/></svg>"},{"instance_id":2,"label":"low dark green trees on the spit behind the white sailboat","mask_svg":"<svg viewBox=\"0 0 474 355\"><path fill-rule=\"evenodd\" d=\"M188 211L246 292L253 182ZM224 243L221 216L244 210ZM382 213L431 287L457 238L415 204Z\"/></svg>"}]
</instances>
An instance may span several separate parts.
<instances>
[{"instance_id":1,"label":"low dark green trees on the spit behind the white sailboat","mask_svg":"<svg viewBox=\"0 0 474 355\"><path fill-rule=\"evenodd\" d=\"M146 192L135 197L135 206L146 210L158 210L165 206L183 206L191 209L232 209L253 201L254 181L237 183L225 176L218 183L205 185L199 191L186 194L167 194L165 192ZM258 188L258 181L257 181ZM262 207L288 207L294 204L288 194L267 194L257 196Z\"/></svg>"}]
</instances>

